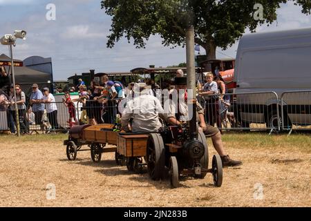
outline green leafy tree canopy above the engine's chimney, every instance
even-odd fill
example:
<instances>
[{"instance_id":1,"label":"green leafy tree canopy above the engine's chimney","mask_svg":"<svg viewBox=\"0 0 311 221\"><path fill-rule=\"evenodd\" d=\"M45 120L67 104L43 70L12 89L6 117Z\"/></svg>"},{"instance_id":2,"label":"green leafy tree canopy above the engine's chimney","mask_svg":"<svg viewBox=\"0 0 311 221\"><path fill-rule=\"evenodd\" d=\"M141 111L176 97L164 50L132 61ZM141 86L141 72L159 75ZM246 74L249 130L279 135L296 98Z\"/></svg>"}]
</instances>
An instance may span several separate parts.
<instances>
[{"instance_id":1,"label":"green leafy tree canopy above the engine's chimney","mask_svg":"<svg viewBox=\"0 0 311 221\"><path fill-rule=\"evenodd\" d=\"M192 23L195 43L205 48L208 59L215 59L216 47L225 50L246 28L254 32L258 25L272 23L276 20L276 9L287 1L104 0L102 9L112 17L107 47L112 48L120 38L126 37L143 48L149 37L156 34L162 37L164 46L185 46L185 32ZM258 3L262 6L262 16L257 15L261 8L254 7ZM294 3L310 15L310 0L294 0Z\"/></svg>"}]
</instances>

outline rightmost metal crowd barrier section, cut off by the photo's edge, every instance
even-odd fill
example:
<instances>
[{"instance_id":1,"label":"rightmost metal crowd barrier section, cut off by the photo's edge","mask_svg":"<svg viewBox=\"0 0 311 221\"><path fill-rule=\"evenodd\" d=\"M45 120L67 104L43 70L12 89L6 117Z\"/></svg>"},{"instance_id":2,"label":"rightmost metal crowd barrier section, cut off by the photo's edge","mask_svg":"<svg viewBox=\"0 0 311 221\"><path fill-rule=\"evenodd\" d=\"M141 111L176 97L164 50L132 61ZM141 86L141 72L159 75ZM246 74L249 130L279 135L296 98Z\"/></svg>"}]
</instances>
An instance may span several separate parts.
<instances>
[{"instance_id":1,"label":"rightmost metal crowd barrier section, cut off by the photo's edge","mask_svg":"<svg viewBox=\"0 0 311 221\"><path fill-rule=\"evenodd\" d=\"M311 90L286 91L281 95L281 128L311 130Z\"/></svg>"}]
</instances>

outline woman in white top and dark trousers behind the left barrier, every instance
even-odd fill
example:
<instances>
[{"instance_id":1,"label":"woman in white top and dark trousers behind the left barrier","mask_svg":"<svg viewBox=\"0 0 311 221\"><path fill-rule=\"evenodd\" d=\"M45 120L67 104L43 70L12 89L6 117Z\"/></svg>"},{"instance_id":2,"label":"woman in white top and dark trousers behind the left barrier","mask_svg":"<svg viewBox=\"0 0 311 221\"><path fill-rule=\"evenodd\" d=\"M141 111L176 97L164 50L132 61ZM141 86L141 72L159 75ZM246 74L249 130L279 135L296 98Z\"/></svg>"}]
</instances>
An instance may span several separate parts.
<instances>
[{"instance_id":1,"label":"woman in white top and dark trousers behind the left barrier","mask_svg":"<svg viewBox=\"0 0 311 221\"><path fill-rule=\"evenodd\" d=\"M52 130L59 129L57 123L57 106L55 103L55 97L50 94L50 90L48 88L43 88L42 92L44 96L42 97L42 102L46 104L46 113L48 114L48 121L50 122L50 126L52 126Z\"/></svg>"}]
</instances>

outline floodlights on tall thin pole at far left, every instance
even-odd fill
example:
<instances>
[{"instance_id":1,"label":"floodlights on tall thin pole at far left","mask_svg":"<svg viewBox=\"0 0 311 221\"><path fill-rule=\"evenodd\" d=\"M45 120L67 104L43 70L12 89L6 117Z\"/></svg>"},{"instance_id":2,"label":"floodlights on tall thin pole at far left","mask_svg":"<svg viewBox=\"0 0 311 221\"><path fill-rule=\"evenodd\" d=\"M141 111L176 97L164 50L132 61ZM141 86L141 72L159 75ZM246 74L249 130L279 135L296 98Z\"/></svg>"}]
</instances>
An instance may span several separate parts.
<instances>
[{"instance_id":1,"label":"floodlights on tall thin pole at far left","mask_svg":"<svg viewBox=\"0 0 311 221\"><path fill-rule=\"evenodd\" d=\"M17 135L20 136L19 130L19 109L17 107L16 100L16 88L15 88L15 73L14 73L14 60L13 60L13 50L12 46L15 46L16 39L26 39L26 31L24 30L15 30L14 35L4 35L0 39L0 43L5 46L10 46L10 57L11 57L11 68L12 68L12 79L14 87L14 99L15 99L15 115L16 115L16 124L17 124Z\"/></svg>"}]
</instances>

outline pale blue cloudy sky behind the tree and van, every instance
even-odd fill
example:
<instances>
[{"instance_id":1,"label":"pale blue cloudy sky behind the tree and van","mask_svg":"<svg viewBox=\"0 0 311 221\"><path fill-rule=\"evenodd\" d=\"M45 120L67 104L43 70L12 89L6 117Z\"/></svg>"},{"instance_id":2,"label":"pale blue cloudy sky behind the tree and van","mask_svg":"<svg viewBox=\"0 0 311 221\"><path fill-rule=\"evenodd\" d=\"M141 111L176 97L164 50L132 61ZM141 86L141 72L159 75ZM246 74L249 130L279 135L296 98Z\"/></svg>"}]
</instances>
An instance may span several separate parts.
<instances>
[{"instance_id":1,"label":"pale blue cloudy sky behind the tree and van","mask_svg":"<svg viewBox=\"0 0 311 221\"><path fill-rule=\"evenodd\" d=\"M55 5L55 20L46 19L49 3ZM277 14L272 25L259 26L256 32L311 26L311 16L302 14L301 7L292 2L283 4ZM111 17L101 9L100 0L0 0L0 21L0 37L14 30L27 32L26 40L17 40L14 58L51 57L55 80L66 80L90 69L95 69L95 73L129 71L149 65L166 67L186 60L185 48L164 47L159 36L151 37L145 49L135 48L124 38L114 48L106 48ZM237 47L238 41L227 50L217 48L216 57L235 57ZM9 55L7 46L0 45L2 53ZM205 54L202 48L201 54Z\"/></svg>"}]
</instances>

